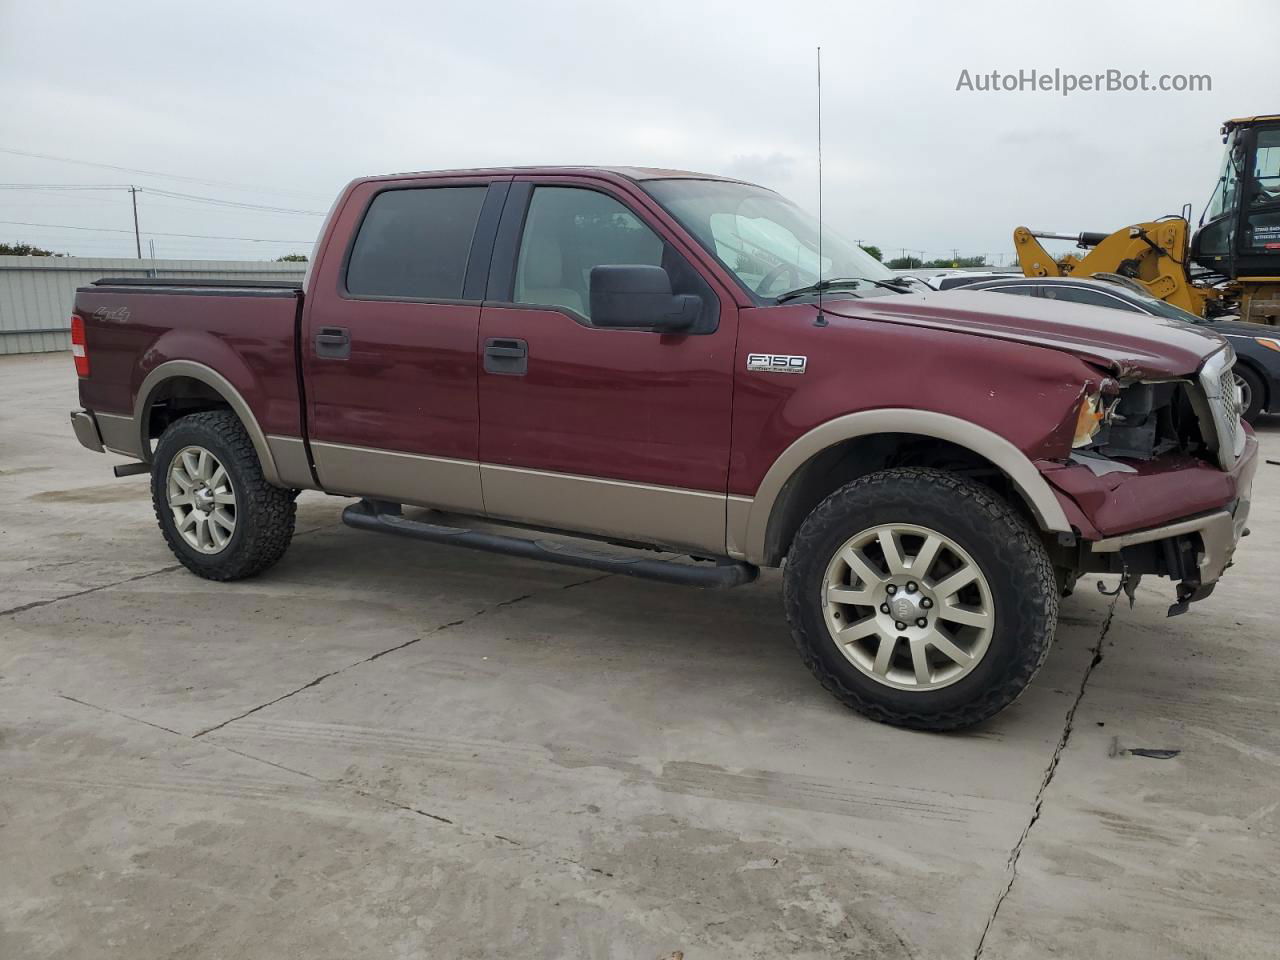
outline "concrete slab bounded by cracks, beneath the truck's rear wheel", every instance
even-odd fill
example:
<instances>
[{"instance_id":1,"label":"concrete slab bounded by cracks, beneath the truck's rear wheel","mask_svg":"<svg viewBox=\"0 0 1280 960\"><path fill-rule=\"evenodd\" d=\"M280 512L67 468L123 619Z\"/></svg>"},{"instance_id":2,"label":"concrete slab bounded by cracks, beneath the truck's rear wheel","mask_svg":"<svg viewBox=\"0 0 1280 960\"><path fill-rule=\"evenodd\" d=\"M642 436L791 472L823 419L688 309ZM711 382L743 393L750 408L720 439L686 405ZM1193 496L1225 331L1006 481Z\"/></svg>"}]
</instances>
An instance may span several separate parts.
<instances>
[{"instance_id":1,"label":"concrete slab bounded by cracks, beneath the truck's rear wheel","mask_svg":"<svg viewBox=\"0 0 1280 960\"><path fill-rule=\"evenodd\" d=\"M127 713L145 705L152 722L196 733L530 590L582 579L517 561L468 567L444 548L389 549L338 524L334 506L308 504L328 507L328 524L268 576L214 584L169 568L5 617L5 675ZM355 582L348 564L358 564Z\"/></svg>"}]
</instances>

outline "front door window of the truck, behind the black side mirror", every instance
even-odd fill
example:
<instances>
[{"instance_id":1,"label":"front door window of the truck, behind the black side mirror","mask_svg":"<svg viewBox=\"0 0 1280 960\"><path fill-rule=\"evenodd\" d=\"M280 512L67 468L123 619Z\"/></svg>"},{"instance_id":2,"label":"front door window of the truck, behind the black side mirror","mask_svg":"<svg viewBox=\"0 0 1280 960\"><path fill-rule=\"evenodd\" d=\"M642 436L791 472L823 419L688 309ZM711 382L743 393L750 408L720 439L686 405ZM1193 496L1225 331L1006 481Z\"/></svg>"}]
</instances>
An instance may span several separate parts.
<instances>
[{"instance_id":1,"label":"front door window of the truck, behind the black side mirror","mask_svg":"<svg viewBox=\"0 0 1280 960\"><path fill-rule=\"evenodd\" d=\"M691 333L709 333L719 319L710 285L671 244L611 196L580 187L536 187L525 216L512 298L563 307L591 319L591 268L660 266L672 293L701 298Z\"/></svg>"}]
</instances>

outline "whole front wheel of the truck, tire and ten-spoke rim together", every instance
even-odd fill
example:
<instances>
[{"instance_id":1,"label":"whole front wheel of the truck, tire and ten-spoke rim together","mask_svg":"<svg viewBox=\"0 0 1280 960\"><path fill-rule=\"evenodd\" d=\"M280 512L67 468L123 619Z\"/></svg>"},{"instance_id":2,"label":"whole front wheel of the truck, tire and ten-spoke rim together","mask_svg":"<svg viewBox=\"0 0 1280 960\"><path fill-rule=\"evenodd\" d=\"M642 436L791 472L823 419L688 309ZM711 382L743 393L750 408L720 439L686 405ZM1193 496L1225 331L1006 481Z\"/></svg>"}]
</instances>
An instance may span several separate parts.
<instances>
[{"instance_id":1,"label":"whole front wheel of the truck, tire and ten-spoke rim together","mask_svg":"<svg viewBox=\"0 0 1280 960\"><path fill-rule=\"evenodd\" d=\"M995 493L941 470L883 470L831 494L791 544L783 596L827 690L918 730L1011 704L1057 626L1039 536Z\"/></svg>"}]
</instances>

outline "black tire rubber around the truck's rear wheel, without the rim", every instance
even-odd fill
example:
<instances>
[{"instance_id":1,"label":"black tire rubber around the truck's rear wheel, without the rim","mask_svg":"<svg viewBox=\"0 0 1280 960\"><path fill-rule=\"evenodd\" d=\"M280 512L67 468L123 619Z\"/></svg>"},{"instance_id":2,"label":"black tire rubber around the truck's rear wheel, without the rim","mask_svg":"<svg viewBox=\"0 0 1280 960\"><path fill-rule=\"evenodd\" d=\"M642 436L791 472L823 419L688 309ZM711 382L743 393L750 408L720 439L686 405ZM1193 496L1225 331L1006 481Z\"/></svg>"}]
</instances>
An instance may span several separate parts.
<instances>
[{"instance_id":1,"label":"black tire rubber around the truck's rear wheel, without the rim","mask_svg":"<svg viewBox=\"0 0 1280 960\"><path fill-rule=\"evenodd\" d=\"M196 550L178 532L168 502L168 472L186 447L198 445L225 467L236 490L236 530L219 553ZM151 502L169 549L187 570L206 580L242 580L273 566L293 539L296 494L262 476L253 442L230 411L191 413L172 422L151 463Z\"/></svg>"}]
</instances>

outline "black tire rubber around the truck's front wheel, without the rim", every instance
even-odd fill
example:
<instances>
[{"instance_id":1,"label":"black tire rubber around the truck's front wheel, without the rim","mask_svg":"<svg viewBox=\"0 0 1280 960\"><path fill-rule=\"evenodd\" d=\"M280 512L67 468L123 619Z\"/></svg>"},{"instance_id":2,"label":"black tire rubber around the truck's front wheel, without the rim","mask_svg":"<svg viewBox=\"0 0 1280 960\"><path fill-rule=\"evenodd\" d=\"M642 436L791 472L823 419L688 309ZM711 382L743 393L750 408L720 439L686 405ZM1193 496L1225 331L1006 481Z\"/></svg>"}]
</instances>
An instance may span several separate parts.
<instances>
[{"instance_id":1,"label":"black tire rubber around the truck's front wheel, without the rim","mask_svg":"<svg viewBox=\"0 0 1280 960\"><path fill-rule=\"evenodd\" d=\"M915 524L955 540L991 588L995 628L972 672L950 686L896 690L837 649L822 613L827 564L861 530ZM1001 497L942 470L901 467L836 490L800 526L783 575L787 622L800 655L837 700L867 717L916 730L960 730L1009 707L1048 655L1059 584L1037 531Z\"/></svg>"}]
</instances>

